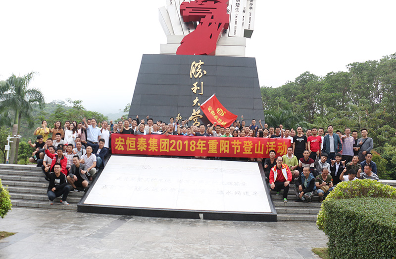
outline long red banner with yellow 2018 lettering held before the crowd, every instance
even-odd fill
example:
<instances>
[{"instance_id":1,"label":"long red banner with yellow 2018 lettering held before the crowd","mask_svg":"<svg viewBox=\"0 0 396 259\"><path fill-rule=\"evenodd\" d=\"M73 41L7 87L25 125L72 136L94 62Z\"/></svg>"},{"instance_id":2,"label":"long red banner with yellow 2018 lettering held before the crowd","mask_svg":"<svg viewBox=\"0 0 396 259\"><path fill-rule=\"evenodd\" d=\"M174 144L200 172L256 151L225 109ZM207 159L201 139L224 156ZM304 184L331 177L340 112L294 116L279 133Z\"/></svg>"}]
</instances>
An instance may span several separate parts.
<instances>
[{"instance_id":1,"label":"long red banner with yellow 2018 lettering held before the crowd","mask_svg":"<svg viewBox=\"0 0 396 259\"><path fill-rule=\"evenodd\" d=\"M268 158L270 150L286 154L290 144L290 139L111 135L113 154Z\"/></svg>"}]
</instances>

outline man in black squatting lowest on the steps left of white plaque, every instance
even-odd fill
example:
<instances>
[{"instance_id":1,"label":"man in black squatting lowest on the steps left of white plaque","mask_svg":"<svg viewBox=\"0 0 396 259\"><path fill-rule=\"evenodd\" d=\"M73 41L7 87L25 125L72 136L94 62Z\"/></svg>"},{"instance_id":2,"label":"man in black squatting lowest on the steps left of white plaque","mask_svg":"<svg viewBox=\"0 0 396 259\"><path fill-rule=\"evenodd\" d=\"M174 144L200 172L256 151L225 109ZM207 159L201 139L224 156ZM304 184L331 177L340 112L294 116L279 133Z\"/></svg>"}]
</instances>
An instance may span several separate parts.
<instances>
[{"instance_id":1,"label":"man in black squatting lowest on the steps left of white plaque","mask_svg":"<svg viewBox=\"0 0 396 259\"><path fill-rule=\"evenodd\" d=\"M66 176L60 173L60 164L55 164L53 166L53 171L53 173L49 174L49 185L47 190L49 204L52 205L53 199L63 195L60 204L69 205L66 199L70 188L69 185L67 185Z\"/></svg>"}]
</instances>

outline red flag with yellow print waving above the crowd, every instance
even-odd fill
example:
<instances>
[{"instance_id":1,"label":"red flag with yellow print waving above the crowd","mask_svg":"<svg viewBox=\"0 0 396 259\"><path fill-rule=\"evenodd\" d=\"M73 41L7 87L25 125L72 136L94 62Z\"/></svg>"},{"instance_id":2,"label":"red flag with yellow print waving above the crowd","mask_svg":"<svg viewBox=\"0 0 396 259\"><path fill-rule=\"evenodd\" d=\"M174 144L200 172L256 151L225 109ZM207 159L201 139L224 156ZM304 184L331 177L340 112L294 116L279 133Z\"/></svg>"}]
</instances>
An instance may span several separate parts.
<instances>
[{"instance_id":1,"label":"red flag with yellow print waving above the crowd","mask_svg":"<svg viewBox=\"0 0 396 259\"><path fill-rule=\"evenodd\" d=\"M225 128L231 126L238 118L238 115L235 115L224 108L219 100L217 100L216 94L212 95L203 104L201 104L200 108L211 123L216 121L217 125Z\"/></svg>"}]
</instances>

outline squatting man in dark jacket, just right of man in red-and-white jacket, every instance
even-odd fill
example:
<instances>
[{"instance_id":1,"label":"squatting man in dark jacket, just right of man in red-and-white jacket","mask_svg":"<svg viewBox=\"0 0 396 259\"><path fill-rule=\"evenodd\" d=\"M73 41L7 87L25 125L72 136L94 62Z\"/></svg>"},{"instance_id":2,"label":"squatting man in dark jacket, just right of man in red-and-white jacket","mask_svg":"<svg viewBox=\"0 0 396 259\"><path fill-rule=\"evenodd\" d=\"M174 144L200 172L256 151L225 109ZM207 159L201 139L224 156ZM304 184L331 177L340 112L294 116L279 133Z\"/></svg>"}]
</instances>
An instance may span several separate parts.
<instances>
[{"instance_id":1,"label":"squatting man in dark jacket, just right of man in red-and-white jacket","mask_svg":"<svg viewBox=\"0 0 396 259\"><path fill-rule=\"evenodd\" d=\"M297 201L311 202L315 195L315 177L310 172L310 168L305 166L302 174L298 177L295 185Z\"/></svg>"}]
</instances>

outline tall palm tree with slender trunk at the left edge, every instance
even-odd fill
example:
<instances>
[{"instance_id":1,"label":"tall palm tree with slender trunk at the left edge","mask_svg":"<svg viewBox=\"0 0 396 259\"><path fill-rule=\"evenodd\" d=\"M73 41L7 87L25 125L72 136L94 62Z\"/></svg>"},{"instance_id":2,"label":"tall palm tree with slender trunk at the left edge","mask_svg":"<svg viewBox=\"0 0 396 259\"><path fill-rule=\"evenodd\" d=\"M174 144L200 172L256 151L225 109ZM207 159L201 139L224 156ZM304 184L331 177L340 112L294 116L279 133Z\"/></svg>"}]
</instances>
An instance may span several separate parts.
<instances>
[{"instance_id":1,"label":"tall palm tree with slender trunk at the left edge","mask_svg":"<svg viewBox=\"0 0 396 259\"><path fill-rule=\"evenodd\" d=\"M0 81L0 111L8 109L14 113L14 123L12 125L12 136L19 134L21 118L26 118L32 124L32 111L36 105L44 105L44 95L36 88L29 89L35 72L24 76L12 74L5 81ZM10 163L18 161L19 139L16 139L11 146Z\"/></svg>"}]
</instances>

